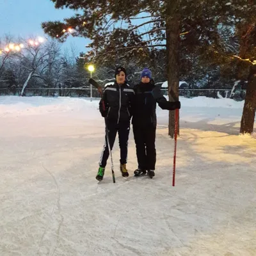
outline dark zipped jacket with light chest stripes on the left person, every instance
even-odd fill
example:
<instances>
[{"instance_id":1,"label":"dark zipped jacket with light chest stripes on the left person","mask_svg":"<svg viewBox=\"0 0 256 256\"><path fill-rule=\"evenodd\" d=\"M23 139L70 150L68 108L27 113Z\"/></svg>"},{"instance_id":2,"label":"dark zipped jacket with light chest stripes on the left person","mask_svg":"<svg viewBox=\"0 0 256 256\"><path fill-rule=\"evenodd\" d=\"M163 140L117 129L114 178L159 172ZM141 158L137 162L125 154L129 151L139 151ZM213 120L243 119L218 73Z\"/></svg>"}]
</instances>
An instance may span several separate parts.
<instances>
[{"instance_id":1,"label":"dark zipped jacket with light chest stripes on the left person","mask_svg":"<svg viewBox=\"0 0 256 256\"><path fill-rule=\"evenodd\" d=\"M126 83L110 84L106 86L103 93L106 110L100 100L100 113L107 120L116 122L130 121L132 116L132 102L134 102L134 90Z\"/></svg>"}]
</instances>

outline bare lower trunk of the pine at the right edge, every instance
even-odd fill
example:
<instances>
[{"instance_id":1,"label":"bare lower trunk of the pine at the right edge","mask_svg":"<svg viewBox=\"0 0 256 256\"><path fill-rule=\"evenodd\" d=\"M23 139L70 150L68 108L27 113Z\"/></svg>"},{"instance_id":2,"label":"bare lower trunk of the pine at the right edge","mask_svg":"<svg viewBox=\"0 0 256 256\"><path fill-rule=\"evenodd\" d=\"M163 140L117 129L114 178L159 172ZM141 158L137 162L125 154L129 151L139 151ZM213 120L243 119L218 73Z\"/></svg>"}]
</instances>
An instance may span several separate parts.
<instances>
[{"instance_id":1,"label":"bare lower trunk of the pine at the right edge","mask_svg":"<svg viewBox=\"0 0 256 256\"><path fill-rule=\"evenodd\" d=\"M252 134L256 111L256 65L250 67L240 132Z\"/></svg>"}]
</instances>

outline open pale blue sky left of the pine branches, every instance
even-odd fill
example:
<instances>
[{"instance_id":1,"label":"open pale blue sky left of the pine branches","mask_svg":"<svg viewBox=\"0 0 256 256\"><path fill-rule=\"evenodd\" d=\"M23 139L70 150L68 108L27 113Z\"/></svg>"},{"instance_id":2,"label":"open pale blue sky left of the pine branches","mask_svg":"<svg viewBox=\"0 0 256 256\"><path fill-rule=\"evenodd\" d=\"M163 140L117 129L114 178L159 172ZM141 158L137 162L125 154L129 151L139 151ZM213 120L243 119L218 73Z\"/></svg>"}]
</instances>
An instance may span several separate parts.
<instances>
[{"instance_id":1,"label":"open pale blue sky left of the pine branches","mask_svg":"<svg viewBox=\"0 0 256 256\"><path fill-rule=\"evenodd\" d=\"M29 38L44 36L41 23L44 21L63 20L71 17L72 10L57 10L50 0L0 0L0 38L4 34ZM46 36L46 35L45 35ZM74 46L77 53L86 52L89 40L86 38L68 37L62 48Z\"/></svg>"}]
</instances>

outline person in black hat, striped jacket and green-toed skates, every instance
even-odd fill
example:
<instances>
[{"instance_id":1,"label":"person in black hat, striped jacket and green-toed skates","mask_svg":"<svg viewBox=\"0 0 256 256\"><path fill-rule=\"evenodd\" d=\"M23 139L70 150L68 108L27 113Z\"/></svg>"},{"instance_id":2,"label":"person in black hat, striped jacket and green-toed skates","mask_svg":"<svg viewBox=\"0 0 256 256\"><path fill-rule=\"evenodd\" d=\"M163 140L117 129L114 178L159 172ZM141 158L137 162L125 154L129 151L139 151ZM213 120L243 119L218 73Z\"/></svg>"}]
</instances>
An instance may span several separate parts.
<instances>
[{"instance_id":1,"label":"person in black hat, striped jacket and green-toed skates","mask_svg":"<svg viewBox=\"0 0 256 256\"><path fill-rule=\"evenodd\" d=\"M127 172L126 168L127 147L130 132L132 101L134 100L134 90L129 88L129 85L125 82L125 78L125 68L116 68L115 83L106 86L103 93L103 100L106 109L104 111L102 100L100 100L99 109L101 115L106 118L106 127L108 127L109 146L111 150L115 143L116 133L118 132L120 147L120 172L122 173L123 177L128 177L129 173ZM99 171L96 176L97 180L103 179L108 157L108 141L107 136L105 136L105 144L99 162Z\"/></svg>"}]
</instances>

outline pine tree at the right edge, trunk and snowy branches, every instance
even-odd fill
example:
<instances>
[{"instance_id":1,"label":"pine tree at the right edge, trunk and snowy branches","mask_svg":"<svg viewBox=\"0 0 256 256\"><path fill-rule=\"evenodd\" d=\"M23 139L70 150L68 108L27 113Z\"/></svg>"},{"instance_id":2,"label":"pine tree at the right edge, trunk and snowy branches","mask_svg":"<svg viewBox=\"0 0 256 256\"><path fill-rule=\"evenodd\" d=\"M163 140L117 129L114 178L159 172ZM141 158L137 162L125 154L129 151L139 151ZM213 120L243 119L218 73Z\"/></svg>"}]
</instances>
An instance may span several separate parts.
<instances>
[{"instance_id":1,"label":"pine tree at the right edge, trunk and snowy branches","mask_svg":"<svg viewBox=\"0 0 256 256\"><path fill-rule=\"evenodd\" d=\"M252 134L256 110L256 4L236 0L226 4L228 13L221 19L216 40L205 47L205 57L222 67L236 68L236 79L247 80L241 120L242 134Z\"/></svg>"}]
</instances>

